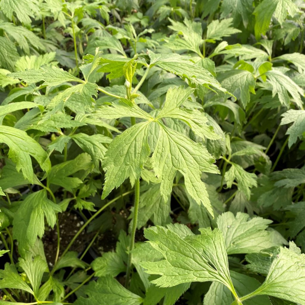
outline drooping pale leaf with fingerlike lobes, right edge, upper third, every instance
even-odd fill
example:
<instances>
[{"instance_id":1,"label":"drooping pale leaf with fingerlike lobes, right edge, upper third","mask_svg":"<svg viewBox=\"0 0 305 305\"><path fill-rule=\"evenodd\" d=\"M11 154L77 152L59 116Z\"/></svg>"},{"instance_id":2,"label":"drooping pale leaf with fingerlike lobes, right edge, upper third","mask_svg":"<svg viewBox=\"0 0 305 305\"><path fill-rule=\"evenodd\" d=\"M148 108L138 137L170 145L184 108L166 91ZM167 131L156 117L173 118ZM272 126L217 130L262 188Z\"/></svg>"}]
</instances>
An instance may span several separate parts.
<instances>
[{"instance_id":1,"label":"drooping pale leaf with fingerlike lobes, right edge, upper third","mask_svg":"<svg viewBox=\"0 0 305 305\"><path fill-rule=\"evenodd\" d=\"M270 83L272 87L272 97L278 95L282 105L289 108L289 93L297 106L299 108L303 107L303 102L301 101L300 95L304 96L304 90L300 88L294 81L292 81L291 78L279 70L267 71L265 75L267 76L267 82Z\"/></svg>"}]
</instances>

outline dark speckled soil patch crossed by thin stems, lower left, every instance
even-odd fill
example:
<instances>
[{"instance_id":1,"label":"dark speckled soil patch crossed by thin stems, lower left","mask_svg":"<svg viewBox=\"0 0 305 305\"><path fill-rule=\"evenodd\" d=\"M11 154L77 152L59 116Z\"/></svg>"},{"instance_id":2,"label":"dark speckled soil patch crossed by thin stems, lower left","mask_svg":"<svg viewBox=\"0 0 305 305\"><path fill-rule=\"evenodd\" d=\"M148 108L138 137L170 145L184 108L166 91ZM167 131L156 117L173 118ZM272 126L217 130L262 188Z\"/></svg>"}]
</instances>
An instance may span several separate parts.
<instances>
[{"instance_id":1,"label":"dark speckled soil patch crossed by thin stems, lower left","mask_svg":"<svg viewBox=\"0 0 305 305\"><path fill-rule=\"evenodd\" d=\"M84 221L75 213L62 213L59 214L59 229L60 229L60 250L59 257L63 253L63 251L68 246L71 239L77 233L77 231L84 224ZM91 234L88 235L86 230L82 231L78 236L76 241L70 248L70 251L76 251L81 253L87 246L87 243L90 241ZM56 249L57 249L57 229L56 226L48 231L45 231L45 235L42 237L45 256L50 267L53 266L55 257L56 257Z\"/></svg>"}]
</instances>

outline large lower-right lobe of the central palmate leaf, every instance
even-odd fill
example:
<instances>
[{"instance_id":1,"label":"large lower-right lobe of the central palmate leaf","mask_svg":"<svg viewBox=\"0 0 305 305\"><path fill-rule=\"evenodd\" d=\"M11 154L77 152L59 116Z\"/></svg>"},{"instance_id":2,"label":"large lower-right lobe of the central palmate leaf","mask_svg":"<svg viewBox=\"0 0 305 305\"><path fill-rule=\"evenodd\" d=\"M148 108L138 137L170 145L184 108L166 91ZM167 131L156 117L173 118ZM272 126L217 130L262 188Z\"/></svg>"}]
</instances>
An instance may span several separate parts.
<instances>
[{"instance_id":1,"label":"large lower-right lobe of the central palmate leaf","mask_svg":"<svg viewBox=\"0 0 305 305\"><path fill-rule=\"evenodd\" d=\"M168 152L171 152L169 154ZM201 181L201 172L218 174L214 160L200 143L193 142L185 135L159 123L159 136L152 155L154 172L161 181L161 194L166 202L178 170L184 176L189 195L200 205L207 208L213 216L206 186Z\"/></svg>"}]
</instances>

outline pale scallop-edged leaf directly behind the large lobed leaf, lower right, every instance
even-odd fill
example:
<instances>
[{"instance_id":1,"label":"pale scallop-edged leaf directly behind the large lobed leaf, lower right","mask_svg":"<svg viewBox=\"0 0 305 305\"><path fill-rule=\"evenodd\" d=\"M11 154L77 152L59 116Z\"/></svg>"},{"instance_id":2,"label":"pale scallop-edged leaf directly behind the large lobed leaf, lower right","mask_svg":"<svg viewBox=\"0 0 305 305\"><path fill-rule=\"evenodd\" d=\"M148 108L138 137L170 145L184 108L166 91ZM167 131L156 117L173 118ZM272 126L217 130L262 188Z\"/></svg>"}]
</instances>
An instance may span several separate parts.
<instances>
[{"instance_id":1,"label":"pale scallop-edged leaf directly behind the large lobed leaf, lower right","mask_svg":"<svg viewBox=\"0 0 305 305\"><path fill-rule=\"evenodd\" d=\"M217 226L224 235L228 254L252 253L286 243L277 231L266 230L272 221L262 217L249 219L246 213L232 212L218 216Z\"/></svg>"}]
</instances>

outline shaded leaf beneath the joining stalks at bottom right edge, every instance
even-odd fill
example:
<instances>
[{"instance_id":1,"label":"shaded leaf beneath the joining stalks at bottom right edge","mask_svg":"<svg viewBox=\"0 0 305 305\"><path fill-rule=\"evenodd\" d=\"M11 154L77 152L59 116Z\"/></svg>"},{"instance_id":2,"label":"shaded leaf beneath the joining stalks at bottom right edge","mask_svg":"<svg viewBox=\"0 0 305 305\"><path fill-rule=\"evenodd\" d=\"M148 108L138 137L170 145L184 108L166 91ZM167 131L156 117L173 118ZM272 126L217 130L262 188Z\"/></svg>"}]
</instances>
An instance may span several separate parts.
<instances>
[{"instance_id":1,"label":"shaded leaf beneath the joining stalks at bottom right edge","mask_svg":"<svg viewBox=\"0 0 305 305\"><path fill-rule=\"evenodd\" d=\"M234 271L230 271L230 275L238 296L244 296L260 287L260 282L255 278ZM231 304L234 300L232 293L226 286L213 282L209 291L204 296L203 305ZM250 300L243 301L242 304L271 305L271 302L267 296L257 296Z\"/></svg>"}]
</instances>

